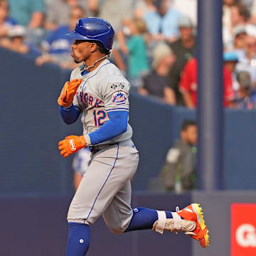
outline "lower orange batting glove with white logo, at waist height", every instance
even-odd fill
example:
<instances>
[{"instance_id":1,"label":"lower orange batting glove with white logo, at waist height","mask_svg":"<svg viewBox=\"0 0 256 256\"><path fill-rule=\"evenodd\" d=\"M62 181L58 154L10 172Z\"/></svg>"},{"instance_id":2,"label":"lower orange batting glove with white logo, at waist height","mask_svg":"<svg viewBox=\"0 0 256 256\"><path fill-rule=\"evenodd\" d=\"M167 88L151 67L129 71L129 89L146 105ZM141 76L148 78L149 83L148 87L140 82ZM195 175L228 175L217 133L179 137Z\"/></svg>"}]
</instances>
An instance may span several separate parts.
<instances>
[{"instance_id":1,"label":"lower orange batting glove with white logo, at waist height","mask_svg":"<svg viewBox=\"0 0 256 256\"><path fill-rule=\"evenodd\" d=\"M71 135L65 137L62 141L58 143L58 148L60 149L60 154L64 157L75 153L76 151L86 147L85 137Z\"/></svg>"}]
</instances>

